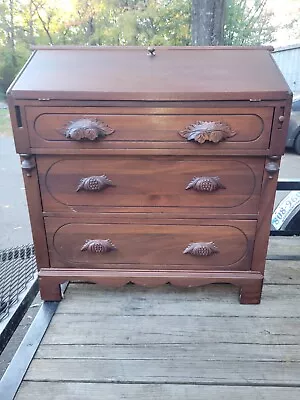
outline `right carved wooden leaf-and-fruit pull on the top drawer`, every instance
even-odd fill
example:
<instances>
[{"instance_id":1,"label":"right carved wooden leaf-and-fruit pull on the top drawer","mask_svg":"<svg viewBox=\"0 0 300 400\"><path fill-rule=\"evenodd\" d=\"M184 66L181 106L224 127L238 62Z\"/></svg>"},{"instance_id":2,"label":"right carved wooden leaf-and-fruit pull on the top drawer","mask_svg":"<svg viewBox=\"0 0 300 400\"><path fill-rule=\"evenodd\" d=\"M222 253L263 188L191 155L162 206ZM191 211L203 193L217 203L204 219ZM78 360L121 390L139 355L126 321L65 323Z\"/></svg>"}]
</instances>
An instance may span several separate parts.
<instances>
[{"instance_id":1,"label":"right carved wooden leaf-and-fruit pull on the top drawer","mask_svg":"<svg viewBox=\"0 0 300 400\"><path fill-rule=\"evenodd\" d=\"M236 135L236 132L228 124L220 121L197 121L178 133L188 141L194 140L200 144L204 142L219 143Z\"/></svg>"}]
</instances>

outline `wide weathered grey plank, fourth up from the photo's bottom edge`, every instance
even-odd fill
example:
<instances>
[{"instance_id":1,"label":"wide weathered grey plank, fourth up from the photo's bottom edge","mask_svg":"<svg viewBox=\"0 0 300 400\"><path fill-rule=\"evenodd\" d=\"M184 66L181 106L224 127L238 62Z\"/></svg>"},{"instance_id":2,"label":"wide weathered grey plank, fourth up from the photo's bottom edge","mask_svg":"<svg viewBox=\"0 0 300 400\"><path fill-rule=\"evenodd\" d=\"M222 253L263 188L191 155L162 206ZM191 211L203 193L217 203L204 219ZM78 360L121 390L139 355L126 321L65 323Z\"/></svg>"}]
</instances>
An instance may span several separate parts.
<instances>
[{"instance_id":1,"label":"wide weathered grey plank, fourth up from the photo's bottom edge","mask_svg":"<svg viewBox=\"0 0 300 400\"><path fill-rule=\"evenodd\" d=\"M62 334L63 332L63 334ZM298 344L300 318L199 316L53 317L45 344L260 343Z\"/></svg>"}]
</instances>

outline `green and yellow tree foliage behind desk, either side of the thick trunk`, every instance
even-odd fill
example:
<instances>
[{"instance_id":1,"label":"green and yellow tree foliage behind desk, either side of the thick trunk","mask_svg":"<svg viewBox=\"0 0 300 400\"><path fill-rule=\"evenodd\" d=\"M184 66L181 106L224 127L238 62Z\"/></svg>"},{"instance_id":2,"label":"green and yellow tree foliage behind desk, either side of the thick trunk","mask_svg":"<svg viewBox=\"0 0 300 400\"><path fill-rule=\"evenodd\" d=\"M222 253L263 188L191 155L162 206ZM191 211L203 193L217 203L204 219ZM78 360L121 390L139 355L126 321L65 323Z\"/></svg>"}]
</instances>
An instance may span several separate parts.
<instances>
[{"instance_id":1,"label":"green and yellow tree foliage behind desk, either side of the thick trunk","mask_svg":"<svg viewBox=\"0 0 300 400\"><path fill-rule=\"evenodd\" d=\"M225 44L272 40L266 0L227 0ZM0 0L0 88L30 45L190 45L191 0Z\"/></svg>"}]
</instances>

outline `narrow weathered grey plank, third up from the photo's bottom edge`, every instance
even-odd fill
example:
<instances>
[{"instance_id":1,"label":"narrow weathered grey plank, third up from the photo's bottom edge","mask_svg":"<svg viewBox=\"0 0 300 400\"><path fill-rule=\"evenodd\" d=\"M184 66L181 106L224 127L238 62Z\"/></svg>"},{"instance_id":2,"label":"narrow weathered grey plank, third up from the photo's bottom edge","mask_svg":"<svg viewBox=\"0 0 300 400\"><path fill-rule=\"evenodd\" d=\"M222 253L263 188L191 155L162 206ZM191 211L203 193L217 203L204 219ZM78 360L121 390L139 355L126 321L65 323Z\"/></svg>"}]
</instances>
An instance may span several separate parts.
<instances>
[{"instance_id":1,"label":"narrow weathered grey plank, third up from the photo's bottom edge","mask_svg":"<svg viewBox=\"0 0 300 400\"><path fill-rule=\"evenodd\" d=\"M36 359L168 360L202 361L300 361L299 345L259 343L134 344L134 345L51 345L39 347Z\"/></svg>"}]
</instances>

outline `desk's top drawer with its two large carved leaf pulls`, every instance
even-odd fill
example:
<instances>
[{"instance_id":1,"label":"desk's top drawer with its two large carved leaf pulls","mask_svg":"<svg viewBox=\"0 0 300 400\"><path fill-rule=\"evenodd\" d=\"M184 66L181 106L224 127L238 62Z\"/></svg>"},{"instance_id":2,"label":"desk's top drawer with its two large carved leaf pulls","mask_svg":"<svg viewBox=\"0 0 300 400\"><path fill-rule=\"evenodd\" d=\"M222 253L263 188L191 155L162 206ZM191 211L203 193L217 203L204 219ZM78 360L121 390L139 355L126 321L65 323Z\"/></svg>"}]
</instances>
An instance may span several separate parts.
<instances>
[{"instance_id":1,"label":"desk's top drawer with its two large carved leaf pulls","mask_svg":"<svg viewBox=\"0 0 300 400\"><path fill-rule=\"evenodd\" d=\"M273 108L28 106L26 118L33 148L255 150L269 147Z\"/></svg>"}]
</instances>

